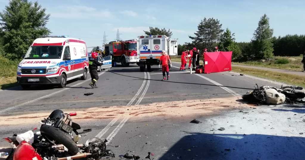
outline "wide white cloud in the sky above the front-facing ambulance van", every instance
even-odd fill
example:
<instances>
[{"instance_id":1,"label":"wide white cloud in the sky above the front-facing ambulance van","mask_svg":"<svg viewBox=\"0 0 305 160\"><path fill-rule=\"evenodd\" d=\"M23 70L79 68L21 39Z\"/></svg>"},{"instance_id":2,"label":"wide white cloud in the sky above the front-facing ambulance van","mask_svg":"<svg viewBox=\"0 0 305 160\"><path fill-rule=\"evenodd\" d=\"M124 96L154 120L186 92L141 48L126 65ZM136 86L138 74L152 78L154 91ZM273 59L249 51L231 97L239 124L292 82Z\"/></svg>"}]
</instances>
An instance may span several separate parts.
<instances>
[{"instance_id":1,"label":"wide white cloud in the sky above the front-facing ambulance van","mask_svg":"<svg viewBox=\"0 0 305 160\"><path fill-rule=\"evenodd\" d=\"M96 18L109 18L113 15L111 12L99 11L93 7L87 6L65 6L60 7L56 11L52 11L51 9L51 17L63 18L63 19L96 19Z\"/></svg>"}]
</instances>

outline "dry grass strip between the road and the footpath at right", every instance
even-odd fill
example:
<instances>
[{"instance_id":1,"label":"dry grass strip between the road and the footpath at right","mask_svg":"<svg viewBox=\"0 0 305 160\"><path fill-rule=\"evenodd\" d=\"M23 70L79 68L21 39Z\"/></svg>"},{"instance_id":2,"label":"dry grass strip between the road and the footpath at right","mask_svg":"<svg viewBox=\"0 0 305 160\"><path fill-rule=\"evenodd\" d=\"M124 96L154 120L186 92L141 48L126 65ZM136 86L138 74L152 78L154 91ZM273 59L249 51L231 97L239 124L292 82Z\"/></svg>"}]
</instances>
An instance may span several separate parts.
<instances>
[{"instance_id":1,"label":"dry grass strip between the road and the footpath at right","mask_svg":"<svg viewBox=\"0 0 305 160\"><path fill-rule=\"evenodd\" d=\"M305 87L305 77L297 76L293 74L272 72L266 70L257 70L252 68L244 68L244 67L232 67L233 72L248 74L255 77L260 77L268 80L274 80L277 82L287 83L291 85Z\"/></svg>"}]
</instances>

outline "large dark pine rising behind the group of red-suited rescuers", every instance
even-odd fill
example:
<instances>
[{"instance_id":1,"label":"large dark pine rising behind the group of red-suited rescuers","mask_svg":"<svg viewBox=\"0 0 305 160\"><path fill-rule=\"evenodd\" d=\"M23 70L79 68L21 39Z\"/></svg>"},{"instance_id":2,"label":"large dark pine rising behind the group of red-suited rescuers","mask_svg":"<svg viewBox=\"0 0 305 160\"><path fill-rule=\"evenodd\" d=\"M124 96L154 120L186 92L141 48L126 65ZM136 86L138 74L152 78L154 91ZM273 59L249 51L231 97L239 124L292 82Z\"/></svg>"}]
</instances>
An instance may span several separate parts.
<instances>
[{"instance_id":1,"label":"large dark pine rising behind the group of red-suited rescuers","mask_svg":"<svg viewBox=\"0 0 305 160\"><path fill-rule=\"evenodd\" d=\"M203 49L207 48L208 50L212 50L214 45L219 42L221 33L224 31L221 29L222 24L219 23L218 19L204 18L198 25L198 31L194 34L195 36L189 36L192 39L193 45L196 45L197 48Z\"/></svg>"}]
</instances>

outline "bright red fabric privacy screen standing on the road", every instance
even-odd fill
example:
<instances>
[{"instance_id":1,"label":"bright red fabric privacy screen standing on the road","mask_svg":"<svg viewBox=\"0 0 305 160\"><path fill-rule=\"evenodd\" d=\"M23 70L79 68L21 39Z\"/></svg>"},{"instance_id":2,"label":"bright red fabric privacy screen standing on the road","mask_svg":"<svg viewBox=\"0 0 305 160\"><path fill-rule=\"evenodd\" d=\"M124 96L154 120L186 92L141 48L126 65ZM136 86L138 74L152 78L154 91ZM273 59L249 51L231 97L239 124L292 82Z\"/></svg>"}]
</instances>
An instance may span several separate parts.
<instances>
[{"instance_id":1,"label":"bright red fabric privacy screen standing on the road","mask_svg":"<svg viewBox=\"0 0 305 160\"><path fill-rule=\"evenodd\" d=\"M232 51L205 52L204 73L231 71Z\"/></svg>"}]
</instances>

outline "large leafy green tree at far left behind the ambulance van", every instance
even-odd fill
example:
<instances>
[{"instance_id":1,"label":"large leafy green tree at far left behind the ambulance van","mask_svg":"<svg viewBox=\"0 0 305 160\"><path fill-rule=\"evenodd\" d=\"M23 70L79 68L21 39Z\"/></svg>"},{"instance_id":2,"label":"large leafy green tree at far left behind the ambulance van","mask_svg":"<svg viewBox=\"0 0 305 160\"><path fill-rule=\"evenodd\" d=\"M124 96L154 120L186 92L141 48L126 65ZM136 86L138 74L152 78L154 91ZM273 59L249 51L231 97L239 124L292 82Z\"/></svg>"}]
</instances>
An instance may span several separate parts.
<instances>
[{"instance_id":1,"label":"large leafy green tree at far left behind the ambulance van","mask_svg":"<svg viewBox=\"0 0 305 160\"><path fill-rule=\"evenodd\" d=\"M11 0L0 12L0 36L5 56L19 59L34 39L48 35L50 30L45 25L49 16L38 2Z\"/></svg>"}]
</instances>

